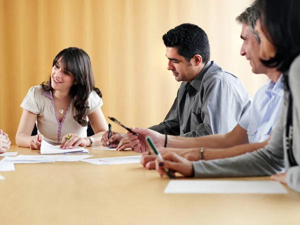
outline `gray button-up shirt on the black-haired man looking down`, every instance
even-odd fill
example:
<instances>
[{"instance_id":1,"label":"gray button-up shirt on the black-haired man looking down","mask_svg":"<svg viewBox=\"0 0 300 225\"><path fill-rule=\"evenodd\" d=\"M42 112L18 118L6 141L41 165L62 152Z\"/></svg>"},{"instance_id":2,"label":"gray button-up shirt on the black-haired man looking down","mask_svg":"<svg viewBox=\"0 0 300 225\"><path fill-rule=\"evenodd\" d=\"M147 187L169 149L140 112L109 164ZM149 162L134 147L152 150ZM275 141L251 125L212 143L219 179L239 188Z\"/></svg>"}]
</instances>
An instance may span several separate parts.
<instances>
[{"instance_id":1,"label":"gray button-up shirt on the black-haired man looking down","mask_svg":"<svg viewBox=\"0 0 300 225\"><path fill-rule=\"evenodd\" d=\"M249 94L240 80L208 61L190 83L181 83L164 121L149 129L188 137L226 133L249 106Z\"/></svg>"}]
</instances>

